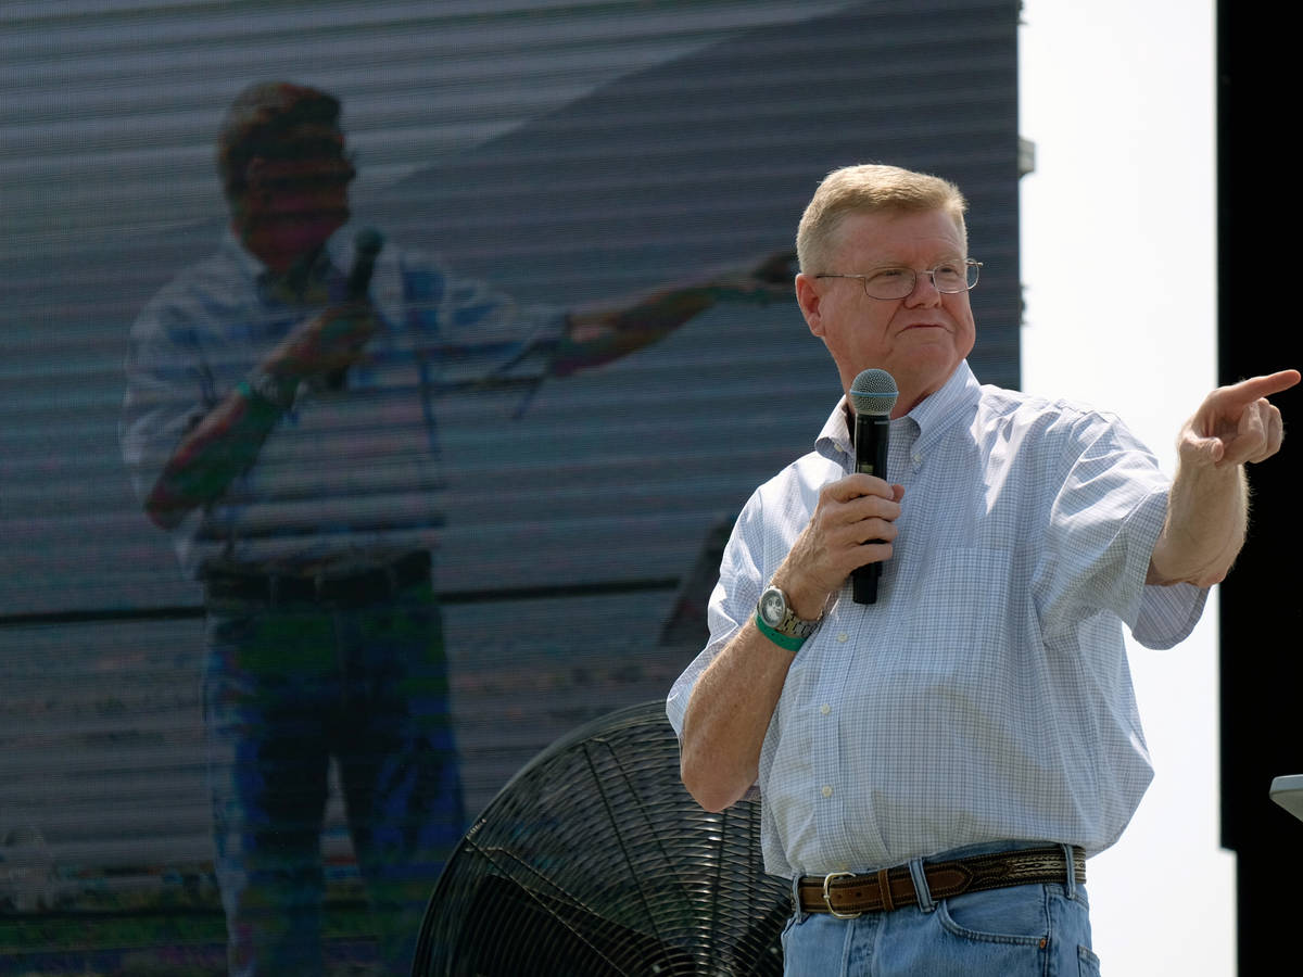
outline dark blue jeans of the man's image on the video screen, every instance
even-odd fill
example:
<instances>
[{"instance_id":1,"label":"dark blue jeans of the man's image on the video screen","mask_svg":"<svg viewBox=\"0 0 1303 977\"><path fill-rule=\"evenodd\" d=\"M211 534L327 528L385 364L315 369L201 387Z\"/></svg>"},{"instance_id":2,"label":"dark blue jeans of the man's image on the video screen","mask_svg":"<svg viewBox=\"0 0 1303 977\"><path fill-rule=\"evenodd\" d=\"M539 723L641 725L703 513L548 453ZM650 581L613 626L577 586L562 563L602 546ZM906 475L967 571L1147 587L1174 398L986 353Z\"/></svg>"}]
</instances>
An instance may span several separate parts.
<instances>
[{"instance_id":1,"label":"dark blue jeans of the man's image on the video screen","mask_svg":"<svg viewBox=\"0 0 1303 977\"><path fill-rule=\"evenodd\" d=\"M323 970L321 834L334 757L384 973L410 972L464 830L439 608L208 607L205 720L232 977Z\"/></svg>"}]
</instances>

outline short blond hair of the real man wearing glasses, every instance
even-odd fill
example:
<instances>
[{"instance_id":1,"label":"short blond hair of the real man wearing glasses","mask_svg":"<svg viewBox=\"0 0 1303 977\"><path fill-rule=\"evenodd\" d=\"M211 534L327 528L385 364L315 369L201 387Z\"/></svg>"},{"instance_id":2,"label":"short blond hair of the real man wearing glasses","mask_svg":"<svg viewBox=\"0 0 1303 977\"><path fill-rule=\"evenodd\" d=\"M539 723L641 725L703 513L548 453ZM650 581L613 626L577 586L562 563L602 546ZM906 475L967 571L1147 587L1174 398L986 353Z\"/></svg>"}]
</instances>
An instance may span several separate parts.
<instances>
[{"instance_id":1,"label":"short blond hair of the real man wearing glasses","mask_svg":"<svg viewBox=\"0 0 1303 977\"><path fill-rule=\"evenodd\" d=\"M851 214L949 214L968 248L964 211L968 201L949 180L900 167L863 163L834 169L814 191L796 231L796 258L801 271L829 271L837 232Z\"/></svg>"}]
</instances>

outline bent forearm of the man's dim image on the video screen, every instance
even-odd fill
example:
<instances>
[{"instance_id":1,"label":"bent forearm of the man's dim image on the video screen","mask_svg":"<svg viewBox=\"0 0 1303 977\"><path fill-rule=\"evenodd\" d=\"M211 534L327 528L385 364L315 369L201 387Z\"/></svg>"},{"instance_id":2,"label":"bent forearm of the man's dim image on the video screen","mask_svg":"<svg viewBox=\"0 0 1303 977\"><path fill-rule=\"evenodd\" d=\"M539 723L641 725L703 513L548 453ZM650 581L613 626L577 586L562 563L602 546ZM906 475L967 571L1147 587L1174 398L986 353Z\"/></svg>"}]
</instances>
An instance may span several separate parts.
<instances>
[{"instance_id":1,"label":"bent forearm of the man's dim image on the video screen","mask_svg":"<svg viewBox=\"0 0 1303 977\"><path fill-rule=\"evenodd\" d=\"M162 529L220 496L258 457L281 410L267 400L233 389L186 434L145 500L145 512Z\"/></svg>"}]
</instances>

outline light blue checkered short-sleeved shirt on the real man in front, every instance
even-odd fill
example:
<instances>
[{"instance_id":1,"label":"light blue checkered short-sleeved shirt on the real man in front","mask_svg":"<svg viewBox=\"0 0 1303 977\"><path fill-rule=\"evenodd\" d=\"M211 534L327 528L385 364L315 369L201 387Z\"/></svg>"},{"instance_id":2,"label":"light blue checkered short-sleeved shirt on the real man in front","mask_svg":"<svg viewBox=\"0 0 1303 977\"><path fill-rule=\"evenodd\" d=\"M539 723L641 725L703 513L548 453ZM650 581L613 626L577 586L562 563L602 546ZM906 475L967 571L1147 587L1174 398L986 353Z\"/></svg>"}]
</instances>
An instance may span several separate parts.
<instances>
[{"instance_id":1,"label":"light blue checkered short-sleeved shirt on the real man in front","mask_svg":"<svg viewBox=\"0 0 1303 977\"><path fill-rule=\"evenodd\" d=\"M850 474L842 404L816 451L737 518L697 676L754 615L826 483ZM891 422L906 487L876 604L850 581L796 655L760 758L765 868L876 870L998 840L1113 844L1152 778L1122 623L1170 647L1207 590L1147 586L1167 478L1115 418L995 387L967 363Z\"/></svg>"}]
</instances>

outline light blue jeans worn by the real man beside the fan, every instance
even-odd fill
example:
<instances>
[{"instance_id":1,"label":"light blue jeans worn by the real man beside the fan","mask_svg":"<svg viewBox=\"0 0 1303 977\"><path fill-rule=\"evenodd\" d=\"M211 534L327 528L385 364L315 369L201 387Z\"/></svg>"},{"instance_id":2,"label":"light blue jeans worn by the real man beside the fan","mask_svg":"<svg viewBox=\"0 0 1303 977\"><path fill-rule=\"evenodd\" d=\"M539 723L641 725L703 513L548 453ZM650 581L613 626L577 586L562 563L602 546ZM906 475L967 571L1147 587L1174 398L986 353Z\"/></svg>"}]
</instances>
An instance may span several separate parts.
<instances>
[{"instance_id":1,"label":"light blue jeans worn by the real man beside the fan","mask_svg":"<svg viewBox=\"0 0 1303 977\"><path fill-rule=\"evenodd\" d=\"M1011 847L971 845L936 860ZM783 930L784 977L1098 977L1089 903L1071 870L1063 885L933 901L921 864L909 864L919 905L853 920L797 912Z\"/></svg>"}]
</instances>

